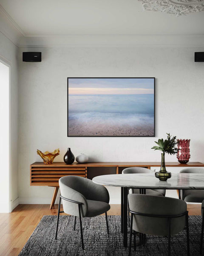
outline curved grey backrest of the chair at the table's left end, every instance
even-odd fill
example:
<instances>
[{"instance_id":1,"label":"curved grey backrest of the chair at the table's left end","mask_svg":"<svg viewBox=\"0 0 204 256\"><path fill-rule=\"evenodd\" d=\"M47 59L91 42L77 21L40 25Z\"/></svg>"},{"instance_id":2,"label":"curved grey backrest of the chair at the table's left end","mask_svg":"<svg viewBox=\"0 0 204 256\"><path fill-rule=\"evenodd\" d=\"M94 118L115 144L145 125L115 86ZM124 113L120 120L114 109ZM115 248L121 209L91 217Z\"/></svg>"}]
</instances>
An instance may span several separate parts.
<instances>
[{"instance_id":1,"label":"curved grey backrest of the chair at the table's left end","mask_svg":"<svg viewBox=\"0 0 204 256\"><path fill-rule=\"evenodd\" d=\"M64 198L82 203L82 216L85 217L88 211L87 200L102 201L109 203L108 190L80 176L64 176L59 179L59 188ZM65 213L79 216L78 204L62 199Z\"/></svg>"}]
</instances>

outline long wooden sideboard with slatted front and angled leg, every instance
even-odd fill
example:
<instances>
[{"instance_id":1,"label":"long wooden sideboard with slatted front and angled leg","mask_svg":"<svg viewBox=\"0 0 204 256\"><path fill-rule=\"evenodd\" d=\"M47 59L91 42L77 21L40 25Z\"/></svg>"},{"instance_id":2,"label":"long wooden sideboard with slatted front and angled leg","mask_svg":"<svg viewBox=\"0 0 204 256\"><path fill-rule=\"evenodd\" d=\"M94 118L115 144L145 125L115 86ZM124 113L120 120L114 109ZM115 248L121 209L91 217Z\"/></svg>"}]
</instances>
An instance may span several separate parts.
<instances>
[{"instance_id":1,"label":"long wooden sideboard with slatted front and angled leg","mask_svg":"<svg viewBox=\"0 0 204 256\"><path fill-rule=\"evenodd\" d=\"M51 200L50 209L54 206L57 192L59 189L59 178L67 175L76 175L92 179L95 176L107 174L120 174L127 167L159 167L160 162L92 162L92 163L73 163L54 162L44 164L35 162L30 166L30 185L31 186L53 186L54 193ZM178 162L167 162L167 167L204 167L203 163L189 162L181 164Z\"/></svg>"}]
</instances>

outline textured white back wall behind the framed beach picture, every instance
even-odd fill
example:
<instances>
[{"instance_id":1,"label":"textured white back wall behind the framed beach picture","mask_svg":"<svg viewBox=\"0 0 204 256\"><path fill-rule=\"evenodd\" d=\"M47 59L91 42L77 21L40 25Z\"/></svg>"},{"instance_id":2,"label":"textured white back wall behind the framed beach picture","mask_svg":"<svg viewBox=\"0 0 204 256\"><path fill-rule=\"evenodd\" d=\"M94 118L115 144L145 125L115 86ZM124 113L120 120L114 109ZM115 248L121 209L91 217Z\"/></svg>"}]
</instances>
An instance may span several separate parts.
<instances>
[{"instance_id":1,"label":"textured white back wall behind the framed beach picture","mask_svg":"<svg viewBox=\"0 0 204 256\"><path fill-rule=\"evenodd\" d=\"M23 51L41 51L42 62L22 62ZM204 63L194 62L202 48L43 47L19 49L19 197L20 203L49 203L53 188L30 186L29 165L36 154L68 147L91 161L160 161L150 149L166 132L189 138L191 161L204 162ZM156 77L156 138L67 137L67 77ZM166 161L176 161L166 156ZM119 191L111 190L111 203ZM115 199L114 199L115 198Z\"/></svg>"}]
</instances>

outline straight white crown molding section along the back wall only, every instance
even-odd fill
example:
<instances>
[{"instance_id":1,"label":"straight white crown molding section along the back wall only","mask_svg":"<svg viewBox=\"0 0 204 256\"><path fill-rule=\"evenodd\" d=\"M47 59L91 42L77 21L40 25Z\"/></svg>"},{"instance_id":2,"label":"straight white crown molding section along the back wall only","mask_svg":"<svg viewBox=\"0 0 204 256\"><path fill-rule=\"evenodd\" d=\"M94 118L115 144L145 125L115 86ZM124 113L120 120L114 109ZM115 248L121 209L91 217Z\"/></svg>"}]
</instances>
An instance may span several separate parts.
<instances>
[{"instance_id":1,"label":"straight white crown molding section along the back wall only","mask_svg":"<svg viewBox=\"0 0 204 256\"><path fill-rule=\"evenodd\" d=\"M48 35L21 37L19 47L204 47L204 35Z\"/></svg>"}]
</instances>

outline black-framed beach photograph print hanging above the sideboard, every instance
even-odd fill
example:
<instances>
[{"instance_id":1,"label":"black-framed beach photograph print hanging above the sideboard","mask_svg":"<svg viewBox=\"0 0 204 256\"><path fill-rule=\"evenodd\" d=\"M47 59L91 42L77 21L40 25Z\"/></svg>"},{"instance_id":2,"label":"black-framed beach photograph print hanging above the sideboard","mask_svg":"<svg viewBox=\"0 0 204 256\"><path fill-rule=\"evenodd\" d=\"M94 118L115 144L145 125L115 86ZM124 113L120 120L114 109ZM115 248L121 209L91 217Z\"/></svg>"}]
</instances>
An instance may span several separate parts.
<instances>
[{"instance_id":1,"label":"black-framed beach photograph print hanging above the sideboard","mask_svg":"<svg viewBox=\"0 0 204 256\"><path fill-rule=\"evenodd\" d=\"M68 136L155 136L155 78L68 78Z\"/></svg>"}]
</instances>

